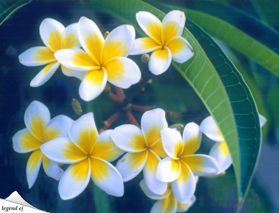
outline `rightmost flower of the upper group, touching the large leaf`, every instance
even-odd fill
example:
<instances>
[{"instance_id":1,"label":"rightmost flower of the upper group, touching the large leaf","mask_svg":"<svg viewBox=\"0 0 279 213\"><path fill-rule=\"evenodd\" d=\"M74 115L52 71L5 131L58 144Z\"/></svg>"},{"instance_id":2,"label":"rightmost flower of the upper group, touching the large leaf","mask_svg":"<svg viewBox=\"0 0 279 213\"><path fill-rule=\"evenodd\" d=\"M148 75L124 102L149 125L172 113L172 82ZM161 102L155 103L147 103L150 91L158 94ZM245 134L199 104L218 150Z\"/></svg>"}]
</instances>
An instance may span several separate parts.
<instances>
[{"instance_id":1,"label":"rightmost flower of the upper group, touching the large leaf","mask_svg":"<svg viewBox=\"0 0 279 213\"><path fill-rule=\"evenodd\" d=\"M165 72L171 59L184 63L194 55L189 42L181 37L186 22L184 12L171 11L162 22L145 11L140 11L135 16L137 23L149 37L135 39L130 55L153 52L148 63L153 74Z\"/></svg>"}]
</instances>

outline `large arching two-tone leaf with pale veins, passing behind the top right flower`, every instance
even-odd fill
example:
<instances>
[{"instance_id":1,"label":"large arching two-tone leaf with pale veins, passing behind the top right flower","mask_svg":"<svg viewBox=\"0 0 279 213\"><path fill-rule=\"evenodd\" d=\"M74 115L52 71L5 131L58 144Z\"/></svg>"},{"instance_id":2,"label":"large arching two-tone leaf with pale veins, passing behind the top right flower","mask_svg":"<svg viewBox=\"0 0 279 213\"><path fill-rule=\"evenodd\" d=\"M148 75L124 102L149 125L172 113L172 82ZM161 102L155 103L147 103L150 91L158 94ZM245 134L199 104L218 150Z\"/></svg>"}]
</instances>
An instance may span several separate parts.
<instances>
[{"instance_id":1,"label":"large arching two-tone leaf with pale veins, passing behind the top right flower","mask_svg":"<svg viewBox=\"0 0 279 213\"><path fill-rule=\"evenodd\" d=\"M114 4L104 0L101 1L100 10L135 26L135 14L138 11L151 12L160 20L165 16L158 9L137 0L118 0ZM185 28L183 37L190 42L195 55L183 64L172 64L193 87L217 121L232 155L239 198L242 199L247 194L260 147L260 127L255 102L242 76L212 38L194 24L188 27L207 55L196 38Z\"/></svg>"}]
</instances>

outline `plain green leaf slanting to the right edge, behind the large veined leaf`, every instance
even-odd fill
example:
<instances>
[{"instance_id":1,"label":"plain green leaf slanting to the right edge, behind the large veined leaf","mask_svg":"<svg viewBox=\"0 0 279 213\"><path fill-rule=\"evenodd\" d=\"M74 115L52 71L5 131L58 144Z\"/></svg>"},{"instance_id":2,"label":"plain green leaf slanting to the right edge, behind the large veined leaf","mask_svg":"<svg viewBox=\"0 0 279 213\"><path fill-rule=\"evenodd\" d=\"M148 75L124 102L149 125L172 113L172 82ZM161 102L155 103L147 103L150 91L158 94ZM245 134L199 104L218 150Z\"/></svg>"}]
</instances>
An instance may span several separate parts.
<instances>
[{"instance_id":1,"label":"plain green leaf slanting to the right edge, behind the large veined leaf","mask_svg":"<svg viewBox=\"0 0 279 213\"><path fill-rule=\"evenodd\" d=\"M194 10L184 9L183 11L189 20L201 27L206 33L224 41L231 48L246 55L279 76L279 55L275 52L217 17Z\"/></svg>"}]
</instances>

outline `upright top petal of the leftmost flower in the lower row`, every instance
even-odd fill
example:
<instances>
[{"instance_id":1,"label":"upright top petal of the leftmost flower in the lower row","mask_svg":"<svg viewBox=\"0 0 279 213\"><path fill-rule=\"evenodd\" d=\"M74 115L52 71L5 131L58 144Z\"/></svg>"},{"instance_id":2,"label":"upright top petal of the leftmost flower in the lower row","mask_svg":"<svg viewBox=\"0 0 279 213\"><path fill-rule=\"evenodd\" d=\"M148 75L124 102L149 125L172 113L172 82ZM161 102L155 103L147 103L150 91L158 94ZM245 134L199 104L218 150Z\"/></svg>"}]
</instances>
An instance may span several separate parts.
<instances>
[{"instance_id":1,"label":"upright top petal of the leftmost flower in the lower row","mask_svg":"<svg viewBox=\"0 0 279 213\"><path fill-rule=\"evenodd\" d=\"M25 111L24 121L32 136L45 142L45 127L50 121L50 112L46 105L39 101L32 101Z\"/></svg>"}]
</instances>

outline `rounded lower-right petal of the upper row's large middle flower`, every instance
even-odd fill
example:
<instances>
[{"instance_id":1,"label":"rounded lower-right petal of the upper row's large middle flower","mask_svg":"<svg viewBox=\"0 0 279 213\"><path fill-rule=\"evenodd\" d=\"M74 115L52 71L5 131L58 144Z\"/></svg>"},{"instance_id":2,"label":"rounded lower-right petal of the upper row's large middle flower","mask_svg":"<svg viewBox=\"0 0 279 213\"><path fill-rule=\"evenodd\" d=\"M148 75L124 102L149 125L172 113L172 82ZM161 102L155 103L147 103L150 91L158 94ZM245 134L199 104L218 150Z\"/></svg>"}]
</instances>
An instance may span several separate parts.
<instances>
[{"instance_id":1,"label":"rounded lower-right petal of the upper row's large middle flower","mask_svg":"<svg viewBox=\"0 0 279 213\"><path fill-rule=\"evenodd\" d=\"M108 73L108 81L123 89L140 81L142 76L140 68L129 58L114 58L104 64L104 68Z\"/></svg>"}]
</instances>

